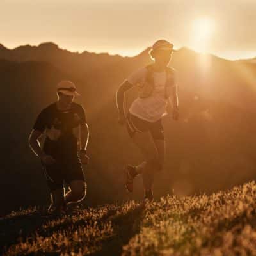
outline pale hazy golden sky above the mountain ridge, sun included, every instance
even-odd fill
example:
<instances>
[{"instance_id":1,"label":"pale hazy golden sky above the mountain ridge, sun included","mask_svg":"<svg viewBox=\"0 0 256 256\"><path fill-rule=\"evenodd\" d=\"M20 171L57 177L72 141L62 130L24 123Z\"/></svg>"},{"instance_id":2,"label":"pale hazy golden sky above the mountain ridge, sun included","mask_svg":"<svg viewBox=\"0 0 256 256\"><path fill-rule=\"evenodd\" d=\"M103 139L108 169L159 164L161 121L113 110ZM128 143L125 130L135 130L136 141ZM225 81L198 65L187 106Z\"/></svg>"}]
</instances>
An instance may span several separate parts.
<instances>
[{"instance_id":1,"label":"pale hazy golden sky above the mountain ridge, sun included","mask_svg":"<svg viewBox=\"0 0 256 256\"><path fill-rule=\"evenodd\" d=\"M256 56L256 0L0 0L0 43L55 42L134 56L158 38L224 58Z\"/></svg>"}]
</instances>

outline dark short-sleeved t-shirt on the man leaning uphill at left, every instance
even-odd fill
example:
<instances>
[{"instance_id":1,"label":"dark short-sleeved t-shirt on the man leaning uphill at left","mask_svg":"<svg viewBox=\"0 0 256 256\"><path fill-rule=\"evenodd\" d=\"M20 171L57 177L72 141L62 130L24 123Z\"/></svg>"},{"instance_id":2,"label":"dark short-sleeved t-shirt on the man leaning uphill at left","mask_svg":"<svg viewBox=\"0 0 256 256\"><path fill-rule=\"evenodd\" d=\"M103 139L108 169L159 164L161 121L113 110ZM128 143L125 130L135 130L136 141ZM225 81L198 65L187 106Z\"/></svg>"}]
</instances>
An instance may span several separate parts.
<instances>
[{"instance_id":1,"label":"dark short-sleeved t-shirt on the man leaning uphill at left","mask_svg":"<svg viewBox=\"0 0 256 256\"><path fill-rule=\"evenodd\" d=\"M61 111L56 102L44 108L36 118L33 129L44 132L47 137L44 143L44 152L56 155L67 152L76 152L77 138L74 131L79 124L86 124L84 109L81 105L72 102L71 108Z\"/></svg>"}]
</instances>

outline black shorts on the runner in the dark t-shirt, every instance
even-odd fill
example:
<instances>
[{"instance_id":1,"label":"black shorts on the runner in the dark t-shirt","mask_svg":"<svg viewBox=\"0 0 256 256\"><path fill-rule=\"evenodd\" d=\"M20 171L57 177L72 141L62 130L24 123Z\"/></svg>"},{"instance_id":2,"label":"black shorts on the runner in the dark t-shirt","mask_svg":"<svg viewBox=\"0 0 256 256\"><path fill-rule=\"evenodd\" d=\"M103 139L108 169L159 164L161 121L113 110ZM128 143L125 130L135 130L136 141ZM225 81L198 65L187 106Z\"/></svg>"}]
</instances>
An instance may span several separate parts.
<instances>
[{"instance_id":1,"label":"black shorts on the runner in the dark t-shirt","mask_svg":"<svg viewBox=\"0 0 256 256\"><path fill-rule=\"evenodd\" d=\"M50 191L62 189L64 182L70 184L72 180L84 181L83 167L77 154L58 157L56 163L51 165L42 163L42 166Z\"/></svg>"}]
</instances>

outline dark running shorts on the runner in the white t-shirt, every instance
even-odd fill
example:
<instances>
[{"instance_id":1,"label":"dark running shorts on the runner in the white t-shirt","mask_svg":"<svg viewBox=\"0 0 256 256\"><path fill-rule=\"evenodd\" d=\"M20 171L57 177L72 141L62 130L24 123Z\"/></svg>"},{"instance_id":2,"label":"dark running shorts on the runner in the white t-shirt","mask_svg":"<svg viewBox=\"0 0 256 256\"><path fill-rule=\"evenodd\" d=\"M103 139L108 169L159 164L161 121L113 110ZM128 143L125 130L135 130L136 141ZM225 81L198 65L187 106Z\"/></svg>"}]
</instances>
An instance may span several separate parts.
<instances>
[{"instance_id":1,"label":"dark running shorts on the runner in the white t-shirt","mask_svg":"<svg viewBox=\"0 0 256 256\"><path fill-rule=\"evenodd\" d=\"M128 112L126 127L131 138L134 136L136 132L149 131L154 140L164 140L164 129L161 119L152 123L141 118L138 118L137 116L134 116Z\"/></svg>"}]
</instances>

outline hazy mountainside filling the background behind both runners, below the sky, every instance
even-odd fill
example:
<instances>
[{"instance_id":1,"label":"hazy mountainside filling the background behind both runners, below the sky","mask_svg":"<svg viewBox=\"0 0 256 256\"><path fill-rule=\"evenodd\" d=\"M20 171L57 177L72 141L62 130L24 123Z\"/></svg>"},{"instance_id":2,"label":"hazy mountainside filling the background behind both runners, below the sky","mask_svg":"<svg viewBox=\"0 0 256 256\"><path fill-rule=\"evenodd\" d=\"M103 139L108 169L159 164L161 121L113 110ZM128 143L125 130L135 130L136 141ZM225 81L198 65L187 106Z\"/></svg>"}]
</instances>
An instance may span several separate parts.
<instances>
[{"instance_id":1,"label":"hazy mountainside filling the background behind both runners, below the sky","mask_svg":"<svg viewBox=\"0 0 256 256\"><path fill-rule=\"evenodd\" d=\"M52 43L13 50L0 46L0 77L4 102L6 150L1 156L2 212L20 205L49 202L40 163L28 147L28 136L38 113L56 100L56 83L70 79L77 85L90 126L90 165L86 204L129 198L122 168L143 159L116 123L115 92L125 77L150 63L148 49L132 58L77 54ZM256 65L223 60L181 48L173 54L179 72L180 120L164 118L167 143L164 172L157 175L156 198L172 193L191 195L228 189L256 177L255 86ZM136 97L127 93L126 107ZM5 122L4 122L5 124ZM243 170L243 172L241 172ZM9 191L8 197L5 191ZM141 198L141 180L134 195Z\"/></svg>"}]
</instances>

